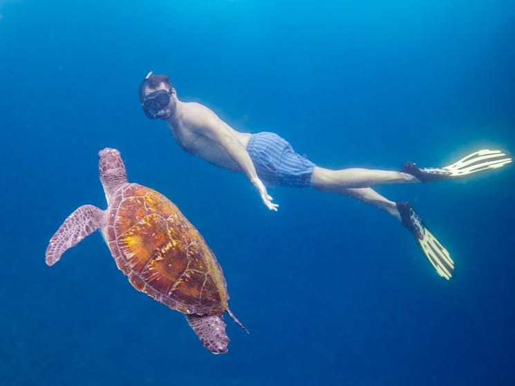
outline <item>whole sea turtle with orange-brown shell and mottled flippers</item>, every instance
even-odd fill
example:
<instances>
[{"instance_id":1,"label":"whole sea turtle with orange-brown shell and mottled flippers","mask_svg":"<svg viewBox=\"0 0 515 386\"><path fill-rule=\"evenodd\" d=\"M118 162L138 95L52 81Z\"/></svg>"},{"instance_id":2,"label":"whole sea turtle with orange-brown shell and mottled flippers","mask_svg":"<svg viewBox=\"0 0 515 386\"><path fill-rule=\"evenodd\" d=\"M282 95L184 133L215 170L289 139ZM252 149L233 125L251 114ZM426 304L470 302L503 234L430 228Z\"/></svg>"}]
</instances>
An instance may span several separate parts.
<instances>
[{"instance_id":1,"label":"whole sea turtle with orange-brown shell and mottled flippers","mask_svg":"<svg viewBox=\"0 0 515 386\"><path fill-rule=\"evenodd\" d=\"M118 268L138 291L186 314L200 342L214 354L227 352L225 278L202 235L164 195L129 184L120 152L100 151L100 180L108 207L83 205L50 239L46 264L100 229ZM246 331L246 329L245 329Z\"/></svg>"}]
</instances>

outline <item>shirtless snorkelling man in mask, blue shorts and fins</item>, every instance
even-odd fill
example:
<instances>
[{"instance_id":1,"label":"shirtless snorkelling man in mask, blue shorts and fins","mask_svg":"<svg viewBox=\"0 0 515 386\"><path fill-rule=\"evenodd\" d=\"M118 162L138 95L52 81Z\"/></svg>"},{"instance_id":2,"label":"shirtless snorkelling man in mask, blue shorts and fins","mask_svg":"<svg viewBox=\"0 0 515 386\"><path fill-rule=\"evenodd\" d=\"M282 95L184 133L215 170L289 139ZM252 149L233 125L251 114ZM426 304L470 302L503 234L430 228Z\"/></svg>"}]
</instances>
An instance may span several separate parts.
<instances>
[{"instance_id":1,"label":"shirtless snorkelling man in mask, blue shorts and fins","mask_svg":"<svg viewBox=\"0 0 515 386\"><path fill-rule=\"evenodd\" d=\"M178 144L188 153L232 171L245 173L272 211L265 185L312 187L339 193L377 206L390 213L413 234L437 273L449 280L454 263L447 249L428 231L409 202L393 202L371 187L382 184L413 184L450 180L478 171L499 168L512 162L500 151L481 150L443 168L419 168L406 162L401 171L366 168L330 170L295 153L285 139L274 133L240 133L206 106L181 102L166 75L148 73L140 84L140 102L145 115L163 119Z\"/></svg>"}]
</instances>

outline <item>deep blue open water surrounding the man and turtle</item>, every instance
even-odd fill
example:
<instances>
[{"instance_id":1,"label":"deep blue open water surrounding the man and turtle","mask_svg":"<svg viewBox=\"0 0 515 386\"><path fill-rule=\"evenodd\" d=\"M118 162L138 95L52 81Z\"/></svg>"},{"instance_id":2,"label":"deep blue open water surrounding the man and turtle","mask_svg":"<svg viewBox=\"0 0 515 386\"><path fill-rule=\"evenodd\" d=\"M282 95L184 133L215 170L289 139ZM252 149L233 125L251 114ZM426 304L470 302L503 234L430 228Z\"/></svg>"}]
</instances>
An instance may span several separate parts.
<instances>
[{"instance_id":1,"label":"deep blue open water surrounding the man and turtle","mask_svg":"<svg viewBox=\"0 0 515 386\"><path fill-rule=\"evenodd\" d=\"M393 218L183 152L138 102L149 71L241 131L331 168L515 152L515 3L0 0L0 385L514 385L514 166L384 186L449 249L439 278ZM164 193L221 263L228 354L131 287L100 233L47 267L97 152Z\"/></svg>"}]
</instances>

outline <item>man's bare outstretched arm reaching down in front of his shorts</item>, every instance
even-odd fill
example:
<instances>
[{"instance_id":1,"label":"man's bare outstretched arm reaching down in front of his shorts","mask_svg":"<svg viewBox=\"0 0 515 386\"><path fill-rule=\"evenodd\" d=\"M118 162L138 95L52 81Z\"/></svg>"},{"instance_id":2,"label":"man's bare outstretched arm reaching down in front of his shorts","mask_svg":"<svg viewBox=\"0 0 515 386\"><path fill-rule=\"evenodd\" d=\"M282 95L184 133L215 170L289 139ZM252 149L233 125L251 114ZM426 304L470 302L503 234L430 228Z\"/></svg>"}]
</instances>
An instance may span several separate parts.
<instances>
[{"instance_id":1,"label":"man's bare outstretched arm reaching down in front of his shorts","mask_svg":"<svg viewBox=\"0 0 515 386\"><path fill-rule=\"evenodd\" d=\"M198 122L198 125L194 125L196 126L195 131L221 144L221 146L225 148L225 151L227 151L227 154L240 166L243 173L247 176L247 179L257 189L259 195L261 195L261 200L263 200L268 209L277 211L279 204L272 202L273 198L267 193L265 185L259 179L247 149L243 147L236 135L232 133L233 129L218 118L211 110L207 108L206 110L205 116L203 117L204 119L201 119L202 122ZM197 117L197 119L198 118L199 117Z\"/></svg>"}]
</instances>

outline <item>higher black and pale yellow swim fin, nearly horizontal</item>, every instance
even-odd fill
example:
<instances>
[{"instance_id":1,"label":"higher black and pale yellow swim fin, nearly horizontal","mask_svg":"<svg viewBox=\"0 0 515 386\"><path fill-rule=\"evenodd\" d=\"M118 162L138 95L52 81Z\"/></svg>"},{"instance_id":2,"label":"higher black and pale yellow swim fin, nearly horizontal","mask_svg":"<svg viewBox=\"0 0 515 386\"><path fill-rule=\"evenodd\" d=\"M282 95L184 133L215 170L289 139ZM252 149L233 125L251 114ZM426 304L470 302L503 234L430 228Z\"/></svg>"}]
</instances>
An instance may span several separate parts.
<instances>
[{"instance_id":1,"label":"higher black and pale yellow swim fin, nearly horizontal","mask_svg":"<svg viewBox=\"0 0 515 386\"><path fill-rule=\"evenodd\" d=\"M413 162L406 162L401 171L415 176L420 182L431 182L500 168L511 162L512 158L501 151L484 149L471 153L443 168L419 168Z\"/></svg>"}]
</instances>

